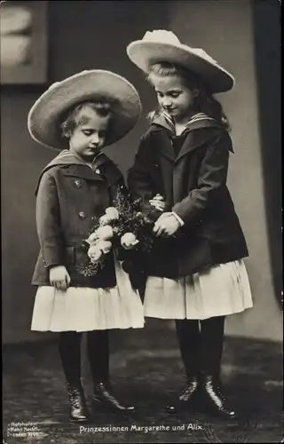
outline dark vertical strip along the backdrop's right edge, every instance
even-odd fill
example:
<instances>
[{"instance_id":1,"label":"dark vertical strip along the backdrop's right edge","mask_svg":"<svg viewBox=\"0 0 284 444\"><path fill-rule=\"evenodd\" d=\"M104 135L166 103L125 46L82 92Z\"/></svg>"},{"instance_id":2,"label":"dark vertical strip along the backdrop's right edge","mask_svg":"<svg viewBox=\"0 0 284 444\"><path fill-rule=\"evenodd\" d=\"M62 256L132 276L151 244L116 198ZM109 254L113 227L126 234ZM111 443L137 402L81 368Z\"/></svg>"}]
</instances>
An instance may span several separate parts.
<instances>
[{"instance_id":1,"label":"dark vertical strip along the backdrop's right edge","mask_svg":"<svg viewBox=\"0 0 284 444\"><path fill-rule=\"evenodd\" d=\"M280 2L277 1L256 2L253 19L268 240L274 294L282 308L280 7Z\"/></svg>"}]
</instances>

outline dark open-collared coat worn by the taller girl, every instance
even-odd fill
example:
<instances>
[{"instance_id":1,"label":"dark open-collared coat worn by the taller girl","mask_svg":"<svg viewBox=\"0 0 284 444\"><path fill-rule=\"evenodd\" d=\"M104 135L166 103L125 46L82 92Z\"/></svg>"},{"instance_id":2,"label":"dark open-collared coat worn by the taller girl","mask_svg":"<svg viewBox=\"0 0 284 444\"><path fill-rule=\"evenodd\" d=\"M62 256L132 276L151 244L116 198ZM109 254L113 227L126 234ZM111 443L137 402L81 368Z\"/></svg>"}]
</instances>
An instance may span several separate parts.
<instances>
[{"instance_id":1,"label":"dark open-collared coat worn by the taller girl","mask_svg":"<svg viewBox=\"0 0 284 444\"><path fill-rule=\"evenodd\" d=\"M154 242L154 250L145 256L148 275L177 278L248 256L226 186L233 151L228 132L208 119L189 125L184 136L176 156L170 126L162 117L155 120L129 171L130 193L143 199L145 211L149 199L159 193L166 210L175 211L185 222L175 236Z\"/></svg>"}]
</instances>

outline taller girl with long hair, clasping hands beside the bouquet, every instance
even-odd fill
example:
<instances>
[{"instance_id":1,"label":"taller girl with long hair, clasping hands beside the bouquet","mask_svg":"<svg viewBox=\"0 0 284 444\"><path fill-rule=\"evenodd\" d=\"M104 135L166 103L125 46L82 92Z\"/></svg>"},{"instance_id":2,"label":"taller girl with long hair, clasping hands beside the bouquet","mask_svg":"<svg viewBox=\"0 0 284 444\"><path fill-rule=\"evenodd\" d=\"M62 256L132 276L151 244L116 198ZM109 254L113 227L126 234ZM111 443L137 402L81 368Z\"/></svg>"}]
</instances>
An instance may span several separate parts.
<instances>
[{"instance_id":1,"label":"taller girl with long hair, clasping hands beside the bouquet","mask_svg":"<svg viewBox=\"0 0 284 444\"><path fill-rule=\"evenodd\" d=\"M159 103L129 186L144 210L155 194L164 196L145 261L145 313L176 320L186 386L169 410L192 406L201 393L217 412L234 416L219 381L225 315L251 307L252 298L242 260L248 249L226 186L229 124L212 96L230 90L233 76L169 31L147 32L127 52Z\"/></svg>"}]
</instances>

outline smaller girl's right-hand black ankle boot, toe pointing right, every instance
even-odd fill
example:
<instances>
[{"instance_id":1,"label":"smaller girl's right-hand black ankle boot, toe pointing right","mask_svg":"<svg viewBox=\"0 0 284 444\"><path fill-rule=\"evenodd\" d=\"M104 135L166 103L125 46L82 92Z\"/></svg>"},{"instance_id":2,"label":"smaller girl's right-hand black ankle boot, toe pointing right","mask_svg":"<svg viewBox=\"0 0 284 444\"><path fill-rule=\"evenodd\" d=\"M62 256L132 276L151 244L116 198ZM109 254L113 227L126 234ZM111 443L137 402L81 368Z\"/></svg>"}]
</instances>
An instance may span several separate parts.
<instances>
[{"instance_id":1,"label":"smaller girl's right-hand black ankle boot, toe pointing right","mask_svg":"<svg viewBox=\"0 0 284 444\"><path fill-rule=\"evenodd\" d=\"M114 398L111 385L109 383L97 383L94 385L94 394L92 397L94 408L107 411L130 413L135 410L133 406L123 405L119 400Z\"/></svg>"}]
</instances>

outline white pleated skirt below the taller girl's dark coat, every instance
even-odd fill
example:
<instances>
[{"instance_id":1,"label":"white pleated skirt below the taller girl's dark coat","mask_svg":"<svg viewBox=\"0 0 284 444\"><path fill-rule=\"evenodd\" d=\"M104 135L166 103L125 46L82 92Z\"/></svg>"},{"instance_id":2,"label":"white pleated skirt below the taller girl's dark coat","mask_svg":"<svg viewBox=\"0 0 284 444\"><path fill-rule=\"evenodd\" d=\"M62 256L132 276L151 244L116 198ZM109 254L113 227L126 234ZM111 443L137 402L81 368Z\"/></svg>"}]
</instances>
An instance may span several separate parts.
<instances>
[{"instance_id":1,"label":"white pleated skirt below the taller girl's dark coat","mask_svg":"<svg viewBox=\"0 0 284 444\"><path fill-rule=\"evenodd\" d=\"M243 260L212 266L178 279L149 276L145 316L159 319L208 319L253 306Z\"/></svg>"}]
</instances>

